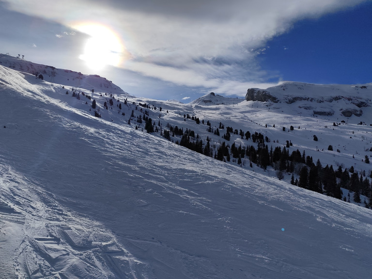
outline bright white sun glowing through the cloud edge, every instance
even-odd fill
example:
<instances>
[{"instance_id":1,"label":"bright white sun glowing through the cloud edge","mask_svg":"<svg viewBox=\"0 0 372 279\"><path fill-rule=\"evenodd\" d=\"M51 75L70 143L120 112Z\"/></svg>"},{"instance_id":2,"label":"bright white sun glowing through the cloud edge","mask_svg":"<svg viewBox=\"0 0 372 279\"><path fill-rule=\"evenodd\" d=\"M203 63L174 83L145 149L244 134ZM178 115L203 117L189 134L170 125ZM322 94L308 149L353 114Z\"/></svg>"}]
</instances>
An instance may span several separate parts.
<instances>
[{"instance_id":1,"label":"bright white sun glowing through the cloud edge","mask_svg":"<svg viewBox=\"0 0 372 279\"><path fill-rule=\"evenodd\" d=\"M79 58L93 70L106 65L118 66L123 60L124 47L120 38L109 28L100 24L79 24L78 31L91 36Z\"/></svg>"}]
</instances>

